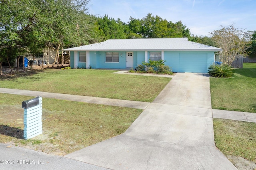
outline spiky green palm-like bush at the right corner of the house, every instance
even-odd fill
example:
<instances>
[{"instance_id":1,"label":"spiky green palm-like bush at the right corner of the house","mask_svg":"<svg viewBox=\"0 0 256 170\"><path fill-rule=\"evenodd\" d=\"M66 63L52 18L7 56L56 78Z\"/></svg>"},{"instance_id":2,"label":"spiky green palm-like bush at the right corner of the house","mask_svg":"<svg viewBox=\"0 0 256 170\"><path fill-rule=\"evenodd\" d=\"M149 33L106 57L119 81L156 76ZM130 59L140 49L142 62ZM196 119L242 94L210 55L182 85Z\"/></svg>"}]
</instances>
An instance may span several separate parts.
<instances>
[{"instance_id":1,"label":"spiky green palm-like bush at the right corner of the house","mask_svg":"<svg viewBox=\"0 0 256 170\"><path fill-rule=\"evenodd\" d=\"M232 66L226 64L210 65L208 73L211 77L233 77Z\"/></svg>"}]
</instances>

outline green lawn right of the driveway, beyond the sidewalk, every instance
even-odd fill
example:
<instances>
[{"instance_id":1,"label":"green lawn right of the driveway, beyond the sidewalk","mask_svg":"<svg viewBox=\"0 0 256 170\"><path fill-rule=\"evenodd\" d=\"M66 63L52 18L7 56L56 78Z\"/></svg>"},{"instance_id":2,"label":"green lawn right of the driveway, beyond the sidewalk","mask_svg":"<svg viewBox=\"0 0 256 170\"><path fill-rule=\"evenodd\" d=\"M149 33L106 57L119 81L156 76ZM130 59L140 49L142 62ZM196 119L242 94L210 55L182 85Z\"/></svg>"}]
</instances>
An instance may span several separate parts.
<instances>
[{"instance_id":1,"label":"green lawn right of the driveway, beyond the sidewalk","mask_svg":"<svg viewBox=\"0 0 256 170\"><path fill-rule=\"evenodd\" d=\"M256 63L233 72L232 78L210 77L212 108L256 113Z\"/></svg>"}]
</instances>

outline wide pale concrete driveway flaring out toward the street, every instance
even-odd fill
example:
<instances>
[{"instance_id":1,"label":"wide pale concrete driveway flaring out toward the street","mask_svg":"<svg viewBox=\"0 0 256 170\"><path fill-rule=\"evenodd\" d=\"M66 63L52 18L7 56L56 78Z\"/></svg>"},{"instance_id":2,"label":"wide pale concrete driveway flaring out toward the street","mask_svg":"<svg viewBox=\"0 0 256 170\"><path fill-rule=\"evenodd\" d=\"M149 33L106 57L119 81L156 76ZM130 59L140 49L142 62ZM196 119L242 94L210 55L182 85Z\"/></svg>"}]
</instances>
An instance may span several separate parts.
<instances>
[{"instance_id":1,"label":"wide pale concrete driveway flaring out toward the street","mask_svg":"<svg viewBox=\"0 0 256 170\"><path fill-rule=\"evenodd\" d=\"M236 169L214 144L209 77L201 73L177 73L124 134L65 157L115 170Z\"/></svg>"}]
</instances>

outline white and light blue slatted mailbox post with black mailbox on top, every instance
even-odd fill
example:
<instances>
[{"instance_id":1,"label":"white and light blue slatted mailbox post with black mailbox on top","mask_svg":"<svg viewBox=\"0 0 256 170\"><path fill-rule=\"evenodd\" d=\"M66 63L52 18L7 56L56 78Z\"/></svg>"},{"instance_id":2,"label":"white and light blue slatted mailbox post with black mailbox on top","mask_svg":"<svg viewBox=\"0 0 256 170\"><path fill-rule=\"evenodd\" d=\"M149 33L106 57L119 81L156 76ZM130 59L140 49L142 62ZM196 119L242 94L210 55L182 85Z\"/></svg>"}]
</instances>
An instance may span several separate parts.
<instances>
[{"instance_id":1,"label":"white and light blue slatted mailbox post with black mailbox on top","mask_svg":"<svg viewBox=\"0 0 256 170\"><path fill-rule=\"evenodd\" d=\"M42 97L22 102L24 108L24 139L42 134Z\"/></svg>"}]
</instances>

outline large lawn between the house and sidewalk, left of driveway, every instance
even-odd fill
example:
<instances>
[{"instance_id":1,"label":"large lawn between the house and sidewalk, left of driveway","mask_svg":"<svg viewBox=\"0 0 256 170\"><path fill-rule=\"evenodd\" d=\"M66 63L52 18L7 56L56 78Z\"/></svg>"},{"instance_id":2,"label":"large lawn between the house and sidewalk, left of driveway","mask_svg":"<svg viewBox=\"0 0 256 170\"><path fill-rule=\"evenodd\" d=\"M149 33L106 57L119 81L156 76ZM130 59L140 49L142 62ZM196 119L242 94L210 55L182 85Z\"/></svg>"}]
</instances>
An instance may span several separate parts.
<instances>
[{"instance_id":1,"label":"large lawn between the house and sidewalk, left of driveway","mask_svg":"<svg viewBox=\"0 0 256 170\"><path fill-rule=\"evenodd\" d=\"M44 69L0 76L0 87L152 102L166 77L111 74L96 69Z\"/></svg>"}]
</instances>

